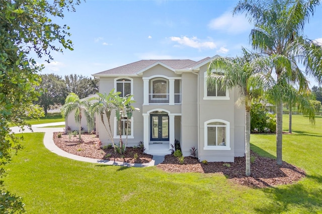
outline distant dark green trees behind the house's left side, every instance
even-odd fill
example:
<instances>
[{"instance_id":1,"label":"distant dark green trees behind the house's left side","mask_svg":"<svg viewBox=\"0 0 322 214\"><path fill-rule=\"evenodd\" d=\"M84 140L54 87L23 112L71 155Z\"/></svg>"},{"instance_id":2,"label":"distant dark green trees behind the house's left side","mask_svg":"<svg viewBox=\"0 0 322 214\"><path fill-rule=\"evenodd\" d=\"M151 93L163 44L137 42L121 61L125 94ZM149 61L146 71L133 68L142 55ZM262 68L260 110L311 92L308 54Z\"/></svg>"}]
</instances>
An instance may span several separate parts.
<instances>
[{"instance_id":1,"label":"distant dark green trees behind the house's left side","mask_svg":"<svg viewBox=\"0 0 322 214\"><path fill-rule=\"evenodd\" d=\"M45 116L53 106L63 105L70 92L82 99L99 91L98 79L83 75L70 74L62 77L52 73L41 74L40 77L41 83L36 90L41 95L34 104L39 104L44 109Z\"/></svg>"}]
</instances>

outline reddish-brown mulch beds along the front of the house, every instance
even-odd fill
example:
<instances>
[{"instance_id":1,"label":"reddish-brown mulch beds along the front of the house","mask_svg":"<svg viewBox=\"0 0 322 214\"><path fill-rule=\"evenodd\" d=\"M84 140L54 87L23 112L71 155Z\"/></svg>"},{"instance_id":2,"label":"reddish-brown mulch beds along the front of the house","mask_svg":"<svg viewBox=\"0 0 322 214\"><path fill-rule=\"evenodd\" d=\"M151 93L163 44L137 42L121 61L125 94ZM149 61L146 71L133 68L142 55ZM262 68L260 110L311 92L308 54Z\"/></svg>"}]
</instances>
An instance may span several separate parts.
<instances>
[{"instance_id":1,"label":"reddish-brown mulch beds along the front of the house","mask_svg":"<svg viewBox=\"0 0 322 214\"><path fill-rule=\"evenodd\" d=\"M116 154L114 149L102 149L101 142L97 136L82 135L82 142L76 137L61 133L61 138L54 133L53 139L55 144L62 150L89 158L112 160L127 163L148 163L152 160L152 155L142 153L139 148L128 147L125 154ZM134 159L134 154L137 158ZM256 159L251 164L251 176L245 176L245 157L234 158L233 163L225 162L208 162L207 164L199 162L197 158L185 157L184 164L180 164L178 158L173 155L167 155L163 163L156 167L166 172L199 172L199 173L221 173L229 180L240 185L251 187L270 187L281 184L294 183L305 177L305 171L283 162L277 165L276 160L271 158L260 157L251 152ZM135 155L136 156L136 155Z\"/></svg>"}]
</instances>

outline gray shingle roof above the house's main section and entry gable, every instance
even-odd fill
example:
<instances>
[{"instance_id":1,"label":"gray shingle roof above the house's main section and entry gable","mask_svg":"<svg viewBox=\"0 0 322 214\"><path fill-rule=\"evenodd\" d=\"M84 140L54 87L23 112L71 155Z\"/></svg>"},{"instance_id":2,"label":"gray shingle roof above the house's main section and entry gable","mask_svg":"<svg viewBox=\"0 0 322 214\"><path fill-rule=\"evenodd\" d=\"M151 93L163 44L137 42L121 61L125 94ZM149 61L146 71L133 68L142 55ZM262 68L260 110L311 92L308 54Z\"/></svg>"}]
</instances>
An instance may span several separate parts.
<instances>
[{"instance_id":1,"label":"gray shingle roof above the house's main section and entry gable","mask_svg":"<svg viewBox=\"0 0 322 214\"><path fill-rule=\"evenodd\" d=\"M209 58L209 57L208 57ZM143 70L144 68L156 63L164 63L165 65L172 67L174 69L182 69L187 67L193 67L190 65L195 64L196 62L190 59L176 59L176 60L140 60L137 62L133 62L127 65L123 65L120 67L112 68L110 70L102 71L96 73L94 75L100 74L135 74L138 71Z\"/></svg>"}]
</instances>

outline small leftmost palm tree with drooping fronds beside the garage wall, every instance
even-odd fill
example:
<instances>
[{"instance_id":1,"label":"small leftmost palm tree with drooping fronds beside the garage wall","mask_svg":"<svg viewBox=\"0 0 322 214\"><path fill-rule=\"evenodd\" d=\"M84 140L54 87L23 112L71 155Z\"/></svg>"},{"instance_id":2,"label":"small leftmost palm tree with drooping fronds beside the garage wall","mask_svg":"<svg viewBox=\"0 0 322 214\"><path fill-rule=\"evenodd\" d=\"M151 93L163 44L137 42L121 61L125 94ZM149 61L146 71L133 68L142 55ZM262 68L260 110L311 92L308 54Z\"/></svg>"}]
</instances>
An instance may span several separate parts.
<instances>
[{"instance_id":1,"label":"small leftmost palm tree with drooping fronds beside the garage wall","mask_svg":"<svg viewBox=\"0 0 322 214\"><path fill-rule=\"evenodd\" d=\"M78 139L82 140L82 112L84 112L88 127L94 127L94 114L91 112L91 102L86 99L79 99L79 97L71 92L65 99L65 104L61 108L61 114L63 117L75 111L75 121L78 123Z\"/></svg>"}]
</instances>

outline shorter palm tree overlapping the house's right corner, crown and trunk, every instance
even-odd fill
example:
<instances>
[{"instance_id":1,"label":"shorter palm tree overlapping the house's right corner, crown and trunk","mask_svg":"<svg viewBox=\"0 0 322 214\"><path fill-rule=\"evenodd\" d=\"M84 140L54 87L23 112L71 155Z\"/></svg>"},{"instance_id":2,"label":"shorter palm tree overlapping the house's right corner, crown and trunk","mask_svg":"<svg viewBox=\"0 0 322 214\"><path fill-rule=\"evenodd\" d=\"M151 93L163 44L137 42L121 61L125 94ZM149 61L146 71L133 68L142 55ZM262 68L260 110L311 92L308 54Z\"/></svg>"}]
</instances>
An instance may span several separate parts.
<instances>
[{"instance_id":1,"label":"shorter palm tree overlapping the house's right corner, crown and trunk","mask_svg":"<svg viewBox=\"0 0 322 214\"><path fill-rule=\"evenodd\" d=\"M236 58L215 58L208 67L207 84L215 87L219 83L228 89L237 87L240 97L239 103L245 105L245 148L246 148L246 176L251 175L250 161L250 138L251 138L251 108L254 98L263 95L265 84L272 81L267 75L270 70L267 58L262 58L256 54L250 54L243 49L244 56ZM260 63L261 61L261 63ZM262 64L263 66L258 66ZM213 71L222 72L213 72ZM265 75L266 74L266 75Z\"/></svg>"}]
</instances>

